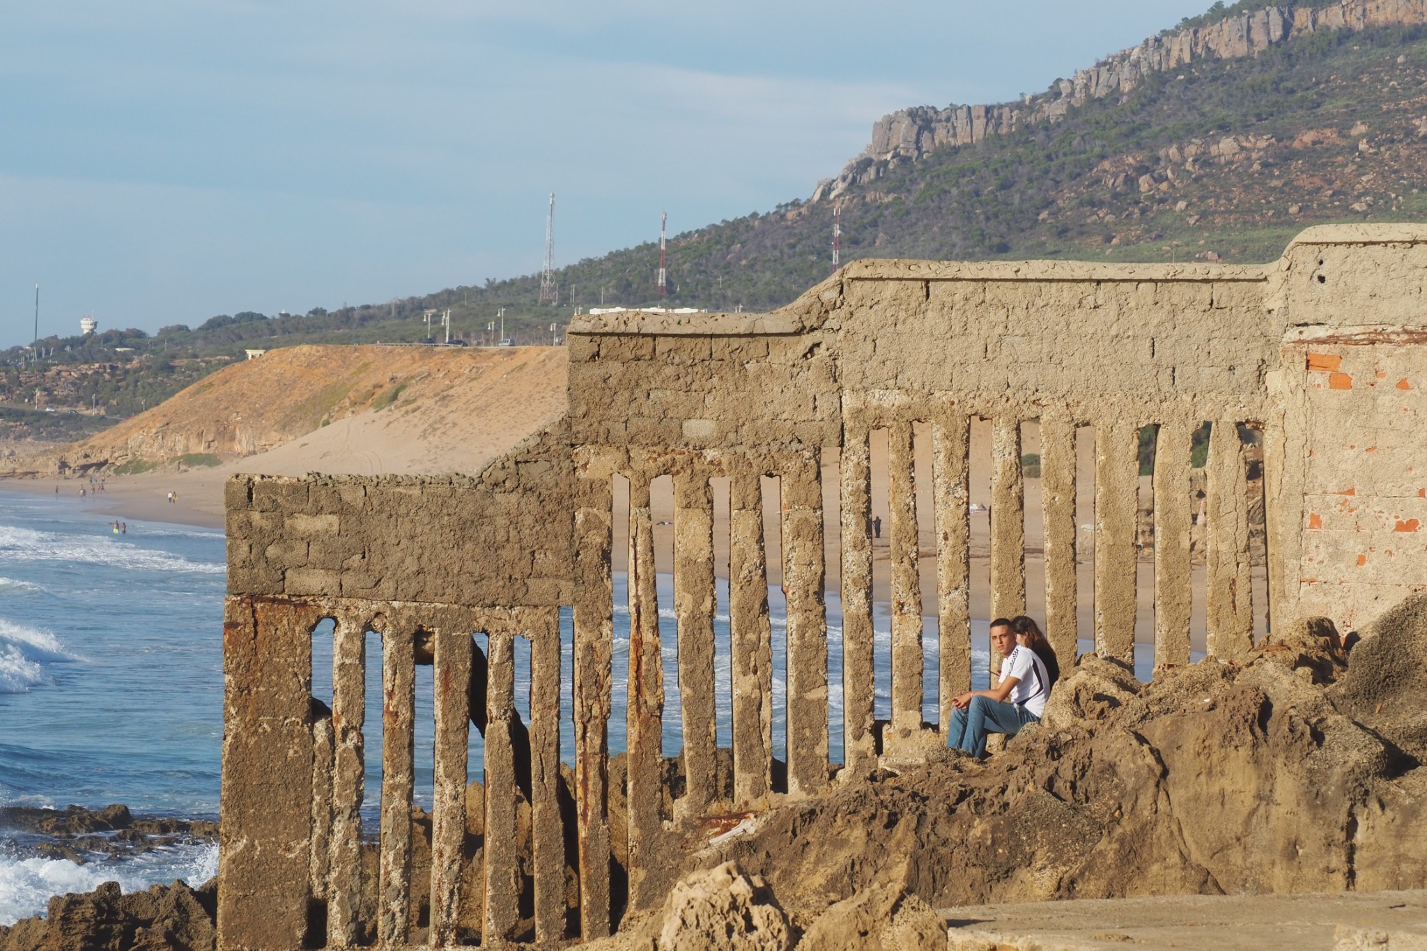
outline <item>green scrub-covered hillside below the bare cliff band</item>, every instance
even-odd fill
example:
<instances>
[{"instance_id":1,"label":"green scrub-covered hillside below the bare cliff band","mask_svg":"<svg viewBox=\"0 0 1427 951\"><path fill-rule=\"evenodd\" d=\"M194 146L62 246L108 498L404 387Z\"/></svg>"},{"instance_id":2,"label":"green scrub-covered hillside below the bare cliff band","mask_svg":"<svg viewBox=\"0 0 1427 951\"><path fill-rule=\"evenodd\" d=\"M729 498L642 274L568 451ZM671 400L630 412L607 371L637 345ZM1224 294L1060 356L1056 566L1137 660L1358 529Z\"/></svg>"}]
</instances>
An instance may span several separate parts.
<instances>
[{"instance_id":1,"label":"green scrub-covered hillside below the bare cliff band","mask_svg":"<svg viewBox=\"0 0 1427 951\"><path fill-rule=\"evenodd\" d=\"M1180 29L1261 6L1216 3ZM601 301L771 309L829 275L835 205L843 264L1271 261L1311 224L1424 220L1424 160L1427 31L1320 30L1253 58L1154 74L1055 124L893 163L835 201L789 201L676 235L668 297L655 292L658 247L648 242L557 271L558 307L537 302L539 277L531 274L304 315L243 311L153 336L51 336L40 341L39 361L27 346L4 354L0 406L127 416L244 359L245 348L418 344L437 327L424 318L430 311L450 309L455 336L488 344L487 327L504 308L507 336L545 344L549 324L564 327L577 308ZM398 395L384 394L382 405ZM303 412L323 418L323 402Z\"/></svg>"}]
</instances>

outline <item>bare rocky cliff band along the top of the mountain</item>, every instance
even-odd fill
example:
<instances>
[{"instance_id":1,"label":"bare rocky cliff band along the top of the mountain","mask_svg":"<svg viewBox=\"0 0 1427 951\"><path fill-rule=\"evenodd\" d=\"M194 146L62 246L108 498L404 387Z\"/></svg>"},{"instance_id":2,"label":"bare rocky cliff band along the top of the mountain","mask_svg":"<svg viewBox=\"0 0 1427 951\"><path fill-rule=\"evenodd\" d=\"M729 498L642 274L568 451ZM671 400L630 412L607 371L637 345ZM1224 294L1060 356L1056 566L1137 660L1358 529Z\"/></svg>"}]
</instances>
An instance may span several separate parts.
<instances>
[{"instance_id":1,"label":"bare rocky cliff band along the top of the mountain","mask_svg":"<svg viewBox=\"0 0 1427 951\"><path fill-rule=\"evenodd\" d=\"M883 115L872 144L836 178L818 183L812 201L836 198L852 185L875 181L888 168L915 161L945 145L970 145L1023 125L1055 123L1090 100L1126 96L1153 73L1200 60L1257 56L1270 46L1317 30L1367 30L1427 23L1427 0L1340 0L1327 7L1274 6L1219 23L1154 36L1136 47L1059 80L1047 93L997 106L916 106Z\"/></svg>"}]
</instances>

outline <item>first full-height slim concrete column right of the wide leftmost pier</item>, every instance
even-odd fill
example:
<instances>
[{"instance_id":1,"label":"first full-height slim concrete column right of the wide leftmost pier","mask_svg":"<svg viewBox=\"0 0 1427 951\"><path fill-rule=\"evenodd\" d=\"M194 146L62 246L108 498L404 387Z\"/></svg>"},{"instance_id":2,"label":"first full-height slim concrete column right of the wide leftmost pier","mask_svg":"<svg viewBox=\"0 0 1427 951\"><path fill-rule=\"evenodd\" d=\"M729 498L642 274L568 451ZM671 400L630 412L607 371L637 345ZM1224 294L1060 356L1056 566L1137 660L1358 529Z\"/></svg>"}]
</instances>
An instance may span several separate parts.
<instances>
[{"instance_id":1,"label":"first full-height slim concrete column right of the wide leftmost pier","mask_svg":"<svg viewBox=\"0 0 1427 951\"><path fill-rule=\"evenodd\" d=\"M367 784L365 617L344 615L332 632L332 840L327 944L357 944L361 905L361 803Z\"/></svg>"}]
</instances>

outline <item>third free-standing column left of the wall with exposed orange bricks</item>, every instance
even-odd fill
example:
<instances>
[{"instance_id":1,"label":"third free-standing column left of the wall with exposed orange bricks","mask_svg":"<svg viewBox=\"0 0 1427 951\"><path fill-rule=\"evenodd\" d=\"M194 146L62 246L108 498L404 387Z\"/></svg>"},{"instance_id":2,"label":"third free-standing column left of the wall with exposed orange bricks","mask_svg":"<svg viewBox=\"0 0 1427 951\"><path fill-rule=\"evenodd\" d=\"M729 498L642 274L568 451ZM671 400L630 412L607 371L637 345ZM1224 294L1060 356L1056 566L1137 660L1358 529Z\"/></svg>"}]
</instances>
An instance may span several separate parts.
<instances>
[{"instance_id":1,"label":"third free-standing column left of the wall with exposed orange bricks","mask_svg":"<svg viewBox=\"0 0 1427 951\"><path fill-rule=\"evenodd\" d=\"M1095 647L1132 663L1137 436L1126 419L1106 419L1095 428Z\"/></svg>"}]
</instances>

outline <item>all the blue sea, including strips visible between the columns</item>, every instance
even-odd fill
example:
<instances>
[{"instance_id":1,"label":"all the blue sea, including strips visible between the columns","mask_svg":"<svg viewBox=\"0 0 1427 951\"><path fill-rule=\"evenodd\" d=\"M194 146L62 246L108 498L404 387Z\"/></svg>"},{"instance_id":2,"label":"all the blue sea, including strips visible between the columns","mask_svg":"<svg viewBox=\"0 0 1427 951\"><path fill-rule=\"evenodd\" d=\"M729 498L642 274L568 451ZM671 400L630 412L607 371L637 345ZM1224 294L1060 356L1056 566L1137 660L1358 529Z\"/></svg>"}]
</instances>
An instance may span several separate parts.
<instances>
[{"instance_id":1,"label":"all the blue sea, including strips visible between the columns","mask_svg":"<svg viewBox=\"0 0 1427 951\"><path fill-rule=\"evenodd\" d=\"M123 516L118 516L123 519ZM0 492L0 804L124 803L136 814L217 818L223 739L224 540L218 530L128 520L71 496ZM665 689L664 754L682 747L678 632L672 577L656 579ZM614 576L609 747L625 749L629 610L625 576ZM768 589L773 637L773 751L785 757L786 603ZM842 610L828 606L831 759L842 760ZM890 714L890 616L873 609L875 714ZM569 610L561 612L561 759L574 763ZM719 746L732 743L728 583L716 582L715 690ZM475 634L482 649L487 639ZM936 720L939 637L923 619L923 719ZM313 636L313 694L331 701L331 623ZM1089 650L1080 642L1080 650ZM1146 653L1146 652L1136 652ZM1142 679L1152 660L1137 657ZM989 634L972 622L973 687L989 684ZM529 643L515 640L517 710L529 723ZM432 669L417 669L415 800L432 790ZM381 793L381 639L367 636L367 783L362 818L377 828ZM482 741L471 730L468 776L482 778ZM87 864L27 855L0 830L0 924L43 914L50 895L118 881L126 891L217 871L214 844L173 845Z\"/></svg>"}]
</instances>

